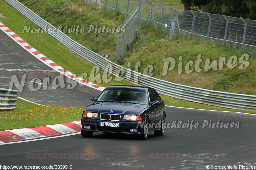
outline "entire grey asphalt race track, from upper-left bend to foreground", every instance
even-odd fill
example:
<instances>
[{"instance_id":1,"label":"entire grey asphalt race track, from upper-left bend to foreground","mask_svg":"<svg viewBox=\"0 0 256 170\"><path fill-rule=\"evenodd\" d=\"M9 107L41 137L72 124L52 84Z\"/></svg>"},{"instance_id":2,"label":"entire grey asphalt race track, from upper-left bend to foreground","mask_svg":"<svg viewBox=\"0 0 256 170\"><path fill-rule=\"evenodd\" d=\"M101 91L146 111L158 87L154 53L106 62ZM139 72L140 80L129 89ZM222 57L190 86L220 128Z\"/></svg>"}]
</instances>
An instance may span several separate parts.
<instances>
[{"instance_id":1,"label":"entire grey asphalt race track, from upper-left bend to foreground","mask_svg":"<svg viewBox=\"0 0 256 170\"><path fill-rule=\"evenodd\" d=\"M5 33L0 30L1 35L5 36ZM44 65L14 41L1 41L0 55L2 88L8 88L12 75L58 75L57 71ZM30 71L10 71L17 68ZM52 90L49 87L47 90L40 89L36 92L24 87L24 91L18 93L18 96L45 105L86 107L91 103L90 97L98 96L99 93L100 91L91 87L77 85L72 90ZM166 123L194 120L194 124L198 122L199 127L191 130L169 128L165 129L163 137L150 134L147 140L139 140L132 135L94 133L91 138L75 134L10 143L0 146L0 162L4 166L72 165L72 169L111 170L207 169L207 165L256 166L255 116L174 107L167 107L166 112ZM223 115L226 115L228 120ZM217 122L218 116L223 123L239 122L239 128L203 128L204 120Z\"/></svg>"}]
</instances>

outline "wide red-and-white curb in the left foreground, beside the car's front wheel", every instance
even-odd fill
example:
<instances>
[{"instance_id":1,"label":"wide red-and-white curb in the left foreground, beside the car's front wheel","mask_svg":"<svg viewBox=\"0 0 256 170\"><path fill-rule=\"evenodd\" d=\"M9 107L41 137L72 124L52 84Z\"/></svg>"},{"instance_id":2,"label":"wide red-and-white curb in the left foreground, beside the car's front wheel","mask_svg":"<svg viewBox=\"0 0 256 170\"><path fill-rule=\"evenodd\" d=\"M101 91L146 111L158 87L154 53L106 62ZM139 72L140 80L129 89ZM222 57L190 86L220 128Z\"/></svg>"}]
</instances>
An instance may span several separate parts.
<instances>
[{"instance_id":1,"label":"wide red-and-white curb in the left foreground, beside the car's front wheel","mask_svg":"<svg viewBox=\"0 0 256 170\"><path fill-rule=\"evenodd\" d=\"M0 131L0 144L20 140L35 139L80 132L81 121L46 125L36 128L23 128Z\"/></svg>"}]
</instances>

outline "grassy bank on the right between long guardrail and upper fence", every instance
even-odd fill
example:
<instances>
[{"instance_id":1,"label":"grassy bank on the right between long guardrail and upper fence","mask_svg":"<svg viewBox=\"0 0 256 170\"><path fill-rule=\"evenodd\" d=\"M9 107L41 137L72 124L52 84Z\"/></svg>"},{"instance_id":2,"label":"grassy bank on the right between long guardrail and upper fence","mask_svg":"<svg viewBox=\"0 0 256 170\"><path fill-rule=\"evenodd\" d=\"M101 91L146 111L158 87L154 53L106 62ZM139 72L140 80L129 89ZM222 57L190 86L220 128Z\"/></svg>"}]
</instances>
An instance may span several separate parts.
<instances>
[{"instance_id":1,"label":"grassy bank on the right between long guardrail and upper fence","mask_svg":"<svg viewBox=\"0 0 256 170\"><path fill-rule=\"evenodd\" d=\"M142 43L136 46L136 52L132 49L122 60L122 65L127 66L128 62L136 63L141 61L139 71L148 66L153 66L153 77L170 81L177 84L188 85L209 90L232 92L240 94L256 95L256 54L245 50L238 50L232 46L222 45L218 42L207 42L205 40L197 40L184 38L177 33L172 39L157 39L148 36L146 46L143 48ZM185 66L188 61L195 61L197 55L201 54L200 68L202 71L195 71L195 63L190 66L192 73L185 72ZM243 54L249 55L249 66L244 70L240 70L243 64L239 62L239 58ZM228 59L235 55L237 57L236 67L229 69L227 67ZM179 56L182 56L182 72L178 73ZM172 70L167 70L164 67L164 58L171 57L175 59L175 67ZM219 59L226 57L226 63L223 69L220 70ZM156 59L157 58L157 59ZM210 63L217 61L217 70L204 70L205 60L209 58ZM173 62L174 63L174 62ZM171 64L169 63L169 67ZM168 67L168 68L169 68ZM131 66L134 69L134 65ZM166 75L162 75L167 71Z\"/></svg>"}]
</instances>

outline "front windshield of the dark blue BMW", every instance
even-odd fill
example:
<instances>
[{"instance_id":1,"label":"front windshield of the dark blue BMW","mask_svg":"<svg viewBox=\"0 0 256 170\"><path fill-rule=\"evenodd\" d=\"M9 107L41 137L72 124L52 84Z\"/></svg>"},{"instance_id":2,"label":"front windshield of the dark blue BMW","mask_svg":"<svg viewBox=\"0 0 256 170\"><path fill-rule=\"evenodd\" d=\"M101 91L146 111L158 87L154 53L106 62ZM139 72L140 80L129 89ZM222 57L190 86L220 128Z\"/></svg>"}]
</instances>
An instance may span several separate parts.
<instances>
[{"instance_id":1,"label":"front windshield of the dark blue BMW","mask_svg":"<svg viewBox=\"0 0 256 170\"><path fill-rule=\"evenodd\" d=\"M97 101L113 101L134 104L148 104L148 93L145 90L130 88L108 88L105 89Z\"/></svg>"}]
</instances>

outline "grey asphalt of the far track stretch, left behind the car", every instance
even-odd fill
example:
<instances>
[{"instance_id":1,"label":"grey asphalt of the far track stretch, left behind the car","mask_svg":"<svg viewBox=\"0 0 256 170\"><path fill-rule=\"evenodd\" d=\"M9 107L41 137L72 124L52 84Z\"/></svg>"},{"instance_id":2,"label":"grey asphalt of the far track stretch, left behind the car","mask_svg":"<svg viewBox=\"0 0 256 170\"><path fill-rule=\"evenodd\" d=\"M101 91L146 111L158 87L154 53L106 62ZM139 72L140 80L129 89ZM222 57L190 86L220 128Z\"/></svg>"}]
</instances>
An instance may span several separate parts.
<instances>
[{"instance_id":1,"label":"grey asphalt of the far track stretch, left behind the car","mask_svg":"<svg viewBox=\"0 0 256 170\"><path fill-rule=\"evenodd\" d=\"M22 48L15 41L11 40L2 30L0 30L0 37L2 37L2 41L0 41L1 88L9 88L11 76L16 75L20 83L22 75L26 74L23 90L17 94L19 97L39 104L59 106L75 105L86 107L91 104L90 98L93 95L98 96L100 94L99 90L85 85L76 85L74 89L68 90L67 85L70 85L70 83L67 83L66 76L64 76L63 79L60 78L60 82L64 82L65 87L61 88L61 86L58 86L58 88L55 89L56 85L52 83L52 80L56 76L61 75L58 71L45 65L35 56L31 55L27 50ZM28 83L36 77L38 77L42 83L44 78L49 77L50 82L44 83L44 85L47 85L46 90L43 90L42 87L35 92L28 89ZM54 82L56 82L57 85L59 84L58 81ZM34 85L34 88L37 88L37 85ZM17 90L15 86L13 86L12 89Z\"/></svg>"}]
</instances>

